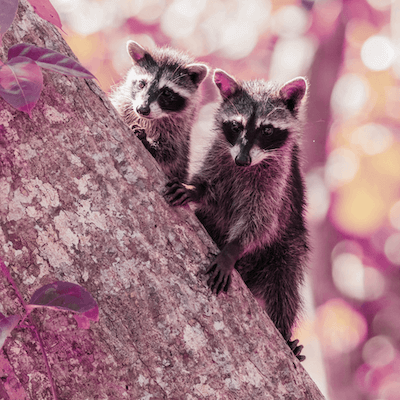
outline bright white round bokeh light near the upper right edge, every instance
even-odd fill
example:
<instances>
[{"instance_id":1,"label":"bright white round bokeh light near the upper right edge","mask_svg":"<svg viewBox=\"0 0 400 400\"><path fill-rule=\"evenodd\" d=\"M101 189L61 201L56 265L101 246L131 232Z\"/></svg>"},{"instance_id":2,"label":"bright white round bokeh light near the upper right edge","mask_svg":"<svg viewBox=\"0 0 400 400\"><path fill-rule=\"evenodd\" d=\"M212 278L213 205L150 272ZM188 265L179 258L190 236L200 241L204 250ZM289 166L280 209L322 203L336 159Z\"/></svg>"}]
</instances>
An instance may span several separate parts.
<instances>
[{"instance_id":1,"label":"bright white round bokeh light near the upper right edge","mask_svg":"<svg viewBox=\"0 0 400 400\"><path fill-rule=\"evenodd\" d=\"M371 36L361 48L361 60L373 71L384 71L394 62L395 47L386 36Z\"/></svg>"}]
</instances>

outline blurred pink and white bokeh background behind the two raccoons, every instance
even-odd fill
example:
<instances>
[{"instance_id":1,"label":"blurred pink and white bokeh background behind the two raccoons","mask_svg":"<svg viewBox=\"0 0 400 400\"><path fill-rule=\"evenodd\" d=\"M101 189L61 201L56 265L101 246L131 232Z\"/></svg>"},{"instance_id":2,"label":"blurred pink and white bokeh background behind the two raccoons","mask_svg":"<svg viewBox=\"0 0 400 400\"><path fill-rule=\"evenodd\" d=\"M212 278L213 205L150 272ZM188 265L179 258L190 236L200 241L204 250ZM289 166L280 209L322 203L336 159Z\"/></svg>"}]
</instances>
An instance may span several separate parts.
<instances>
[{"instance_id":1,"label":"blurred pink and white bokeh background behind the two raccoons","mask_svg":"<svg viewBox=\"0 0 400 400\"><path fill-rule=\"evenodd\" d=\"M240 79L308 77L313 253L294 336L327 399L400 399L400 0L52 3L106 92L130 66L128 39Z\"/></svg>"}]
</instances>

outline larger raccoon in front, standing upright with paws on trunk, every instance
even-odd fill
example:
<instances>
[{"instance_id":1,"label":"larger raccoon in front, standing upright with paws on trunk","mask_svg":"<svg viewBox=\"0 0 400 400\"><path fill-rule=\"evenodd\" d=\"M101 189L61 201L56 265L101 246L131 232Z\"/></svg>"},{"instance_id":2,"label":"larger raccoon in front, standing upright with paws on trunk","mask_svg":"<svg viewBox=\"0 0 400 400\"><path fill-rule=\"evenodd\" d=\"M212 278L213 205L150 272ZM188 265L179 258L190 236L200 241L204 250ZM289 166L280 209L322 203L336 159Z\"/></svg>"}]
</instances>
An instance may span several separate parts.
<instances>
[{"instance_id":1,"label":"larger raccoon in front, standing upright with paws on trunk","mask_svg":"<svg viewBox=\"0 0 400 400\"><path fill-rule=\"evenodd\" d=\"M216 70L214 82L223 98L216 138L201 170L188 184L171 180L165 197L195 202L221 249L206 271L212 291L227 291L236 268L303 361L303 346L290 339L309 251L300 168L307 81L239 82Z\"/></svg>"}]
</instances>

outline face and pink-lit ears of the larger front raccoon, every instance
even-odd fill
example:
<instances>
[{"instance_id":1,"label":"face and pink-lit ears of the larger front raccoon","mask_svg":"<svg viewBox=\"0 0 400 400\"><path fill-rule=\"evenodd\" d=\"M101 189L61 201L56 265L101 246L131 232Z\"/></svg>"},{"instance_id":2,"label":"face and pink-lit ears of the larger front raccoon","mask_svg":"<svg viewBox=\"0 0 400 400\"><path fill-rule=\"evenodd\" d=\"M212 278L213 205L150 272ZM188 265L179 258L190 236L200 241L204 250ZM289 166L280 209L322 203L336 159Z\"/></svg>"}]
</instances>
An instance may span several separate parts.
<instances>
[{"instance_id":1,"label":"face and pink-lit ears of the larger front raccoon","mask_svg":"<svg viewBox=\"0 0 400 400\"><path fill-rule=\"evenodd\" d=\"M259 164L290 142L293 127L299 125L299 107L307 89L305 79L297 78L276 90L264 81L239 85L217 70L214 82L224 98L217 129L229 143L236 165Z\"/></svg>"}]
</instances>

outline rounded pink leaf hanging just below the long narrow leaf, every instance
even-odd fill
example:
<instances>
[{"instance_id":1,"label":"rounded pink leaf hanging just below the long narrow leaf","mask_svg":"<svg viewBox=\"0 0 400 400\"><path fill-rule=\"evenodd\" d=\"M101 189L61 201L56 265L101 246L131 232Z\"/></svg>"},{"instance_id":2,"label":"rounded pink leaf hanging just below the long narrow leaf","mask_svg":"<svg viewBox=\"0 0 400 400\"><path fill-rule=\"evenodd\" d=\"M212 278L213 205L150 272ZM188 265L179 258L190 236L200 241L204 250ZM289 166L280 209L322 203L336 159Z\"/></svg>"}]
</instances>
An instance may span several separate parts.
<instances>
[{"instance_id":1,"label":"rounded pink leaf hanging just below the long narrow leaf","mask_svg":"<svg viewBox=\"0 0 400 400\"><path fill-rule=\"evenodd\" d=\"M19 111L31 116L43 87L40 67L30 58L15 57L0 61L0 96Z\"/></svg>"}]
</instances>

